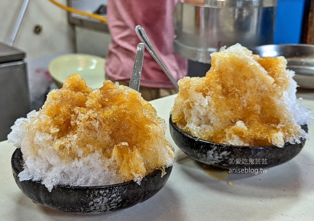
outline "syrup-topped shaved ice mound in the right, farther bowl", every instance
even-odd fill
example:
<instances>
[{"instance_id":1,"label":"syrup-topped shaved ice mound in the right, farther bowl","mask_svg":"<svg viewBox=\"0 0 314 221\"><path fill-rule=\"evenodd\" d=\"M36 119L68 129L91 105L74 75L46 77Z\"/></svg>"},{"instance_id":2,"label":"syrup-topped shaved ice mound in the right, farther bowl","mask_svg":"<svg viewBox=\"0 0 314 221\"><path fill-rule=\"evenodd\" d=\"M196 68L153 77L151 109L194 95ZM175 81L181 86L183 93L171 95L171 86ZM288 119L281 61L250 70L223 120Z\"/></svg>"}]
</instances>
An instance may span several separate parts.
<instances>
[{"instance_id":1,"label":"syrup-topped shaved ice mound in the right, farther bowl","mask_svg":"<svg viewBox=\"0 0 314 221\"><path fill-rule=\"evenodd\" d=\"M311 111L296 101L284 57L259 57L240 44L211 54L202 78L179 80L172 121L194 137L234 146L283 147L308 139Z\"/></svg>"}]
</instances>

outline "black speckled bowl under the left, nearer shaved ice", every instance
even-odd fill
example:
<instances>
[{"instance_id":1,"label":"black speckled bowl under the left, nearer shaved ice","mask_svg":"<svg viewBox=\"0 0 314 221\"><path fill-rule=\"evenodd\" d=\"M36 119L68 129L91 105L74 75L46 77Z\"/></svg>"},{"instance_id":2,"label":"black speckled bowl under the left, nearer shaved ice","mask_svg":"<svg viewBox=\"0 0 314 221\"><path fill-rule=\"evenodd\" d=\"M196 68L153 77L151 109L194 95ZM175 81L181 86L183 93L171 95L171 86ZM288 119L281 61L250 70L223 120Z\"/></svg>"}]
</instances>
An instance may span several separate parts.
<instances>
[{"instance_id":1,"label":"black speckled bowl under the left, nearer shaved ice","mask_svg":"<svg viewBox=\"0 0 314 221\"><path fill-rule=\"evenodd\" d=\"M17 148L11 159L13 176L21 191L34 202L68 213L105 213L131 207L154 196L167 182L172 166L155 170L138 185L134 181L107 186L55 186L51 192L40 181L19 181L23 155Z\"/></svg>"}]
</instances>

